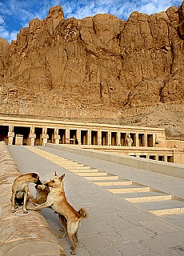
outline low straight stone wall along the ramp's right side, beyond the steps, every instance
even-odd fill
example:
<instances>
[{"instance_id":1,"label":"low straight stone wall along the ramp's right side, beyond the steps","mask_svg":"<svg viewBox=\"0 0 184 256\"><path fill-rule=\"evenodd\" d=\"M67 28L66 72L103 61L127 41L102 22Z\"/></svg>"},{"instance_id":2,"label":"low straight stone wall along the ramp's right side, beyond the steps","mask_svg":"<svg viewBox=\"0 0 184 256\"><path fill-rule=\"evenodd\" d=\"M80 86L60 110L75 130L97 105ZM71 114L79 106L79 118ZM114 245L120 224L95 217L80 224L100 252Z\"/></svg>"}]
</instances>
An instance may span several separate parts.
<instances>
[{"instance_id":1,"label":"low straight stone wall along the ramp's right side, beyond the steps","mask_svg":"<svg viewBox=\"0 0 184 256\"><path fill-rule=\"evenodd\" d=\"M46 146L65 150L71 153L86 155L91 158L98 158L105 161L116 162L124 166L131 166L142 170L150 170L160 174L184 178L184 165L180 165L177 163L135 158L122 154L115 154L112 152L102 152L99 150L85 150L75 145L66 146L63 144L56 145L47 143Z\"/></svg>"}]
</instances>

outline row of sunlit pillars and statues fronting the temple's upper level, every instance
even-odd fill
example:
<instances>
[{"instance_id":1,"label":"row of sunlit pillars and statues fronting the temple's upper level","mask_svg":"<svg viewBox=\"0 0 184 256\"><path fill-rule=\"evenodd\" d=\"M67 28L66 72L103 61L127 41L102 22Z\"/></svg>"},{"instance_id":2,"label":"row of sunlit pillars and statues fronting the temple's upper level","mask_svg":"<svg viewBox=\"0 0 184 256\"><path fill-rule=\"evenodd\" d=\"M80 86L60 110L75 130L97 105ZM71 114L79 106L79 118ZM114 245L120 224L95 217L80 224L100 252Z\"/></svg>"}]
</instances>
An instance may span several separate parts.
<instances>
[{"instance_id":1,"label":"row of sunlit pillars and statues fronting the temple's upper level","mask_svg":"<svg viewBox=\"0 0 184 256\"><path fill-rule=\"evenodd\" d=\"M39 128L42 130L40 133L40 140L42 140L42 146L48 142L49 134L47 133L47 128ZM51 128L50 128L51 129ZM52 134L52 142L59 144L61 135L59 134L59 128L53 128L54 133ZM82 130L82 129L70 129L65 128L64 130L64 139L62 143L70 143L70 140L78 142L79 145L98 145L98 146L154 146L155 143L155 134L138 134L122 131L112 131L112 130ZM36 139L35 127L30 127L29 134L29 145L35 145ZM150 136L150 137L149 137ZM15 144L23 144L23 135L16 134ZM72 137L72 138L70 138ZM149 140L149 142L148 142ZM14 126L9 126L8 132L8 144L12 145L14 141Z\"/></svg>"}]
</instances>

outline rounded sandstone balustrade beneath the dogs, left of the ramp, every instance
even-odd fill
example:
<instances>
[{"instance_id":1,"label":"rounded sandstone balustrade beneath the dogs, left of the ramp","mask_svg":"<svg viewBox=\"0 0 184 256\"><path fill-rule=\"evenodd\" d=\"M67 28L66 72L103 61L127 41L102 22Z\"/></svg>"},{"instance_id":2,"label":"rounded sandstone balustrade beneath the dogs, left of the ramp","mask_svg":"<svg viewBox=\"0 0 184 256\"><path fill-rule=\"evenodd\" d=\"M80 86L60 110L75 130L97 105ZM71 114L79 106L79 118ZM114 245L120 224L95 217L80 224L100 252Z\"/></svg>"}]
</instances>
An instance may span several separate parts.
<instances>
[{"instance_id":1,"label":"rounded sandstone balustrade beneath the dogs, left of the ramp","mask_svg":"<svg viewBox=\"0 0 184 256\"><path fill-rule=\"evenodd\" d=\"M5 142L0 142L0 256L66 256L42 214L23 214L22 209L11 214L11 186L19 175Z\"/></svg>"}]
</instances>

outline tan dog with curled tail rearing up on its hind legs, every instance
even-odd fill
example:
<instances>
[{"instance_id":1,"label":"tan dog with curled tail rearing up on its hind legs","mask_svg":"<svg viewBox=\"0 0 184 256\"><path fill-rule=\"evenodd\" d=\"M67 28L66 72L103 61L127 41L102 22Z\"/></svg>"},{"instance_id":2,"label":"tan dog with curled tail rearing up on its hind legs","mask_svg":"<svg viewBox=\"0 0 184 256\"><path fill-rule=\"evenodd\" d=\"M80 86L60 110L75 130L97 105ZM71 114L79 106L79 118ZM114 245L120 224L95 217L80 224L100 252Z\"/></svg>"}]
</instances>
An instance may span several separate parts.
<instances>
[{"instance_id":1,"label":"tan dog with curled tail rearing up on its hind legs","mask_svg":"<svg viewBox=\"0 0 184 256\"><path fill-rule=\"evenodd\" d=\"M73 242L71 254L74 255L78 245L78 228L80 226L80 222L82 218L87 218L88 214L83 208L77 212L72 206L70 206L70 203L67 202L62 181L64 177L65 174L62 174L61 177L55 174L54 178L47 183L47 186L51 187L51 191L47 196L46 202L42 203L42 205L36 206L35 210L51 206L51 208L59 214L60 221L62 223L65 222L63 225L64 229L67 223L67 232L70 240Z\"/></svg>"}]
</instances>

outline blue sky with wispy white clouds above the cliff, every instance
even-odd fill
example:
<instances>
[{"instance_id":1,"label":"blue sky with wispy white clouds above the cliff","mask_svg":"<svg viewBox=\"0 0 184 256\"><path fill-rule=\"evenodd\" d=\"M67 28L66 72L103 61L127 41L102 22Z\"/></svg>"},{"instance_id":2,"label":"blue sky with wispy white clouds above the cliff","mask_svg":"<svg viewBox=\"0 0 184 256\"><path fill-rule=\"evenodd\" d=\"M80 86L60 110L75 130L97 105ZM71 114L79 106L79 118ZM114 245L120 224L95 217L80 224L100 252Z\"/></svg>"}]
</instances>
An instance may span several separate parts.
<instances>
[{"instance_id":1,"label":"blue sky with wispy white clouds above the cliff","mask_svg":"<svg viewBox=\"0 0 184 256\"><path fill-rule=\"evenodd\" d=\"M135 10L150 15L170 6L180 6L182 0L0 0L0 38L8 42L15 40L31 19L46 18L50 7L59 4L65 18L114 14L126 21Z\"/></svg>"}]
</instances>

